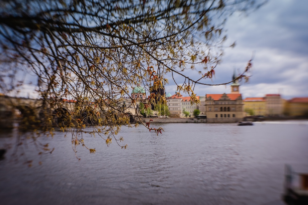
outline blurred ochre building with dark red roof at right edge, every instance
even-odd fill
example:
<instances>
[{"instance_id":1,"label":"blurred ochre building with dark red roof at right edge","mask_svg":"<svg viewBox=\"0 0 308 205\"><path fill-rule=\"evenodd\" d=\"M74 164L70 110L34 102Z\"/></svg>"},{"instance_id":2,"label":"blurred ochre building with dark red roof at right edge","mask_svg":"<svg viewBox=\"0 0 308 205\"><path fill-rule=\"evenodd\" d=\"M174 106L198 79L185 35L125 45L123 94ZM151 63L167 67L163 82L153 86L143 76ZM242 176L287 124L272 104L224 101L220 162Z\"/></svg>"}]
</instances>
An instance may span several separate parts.
<instances>
[{"instance_id":1,"label":"blurred ochre building with dark red roof at right edge","mask_svg":"<svg viewBox=\"0 0 308 205\"><path fill-rule=\"evenodd\" d=\"M284 114L288 116L308 116L308 97L295 97L286 101Z\"/></svg>"}]
</instances>

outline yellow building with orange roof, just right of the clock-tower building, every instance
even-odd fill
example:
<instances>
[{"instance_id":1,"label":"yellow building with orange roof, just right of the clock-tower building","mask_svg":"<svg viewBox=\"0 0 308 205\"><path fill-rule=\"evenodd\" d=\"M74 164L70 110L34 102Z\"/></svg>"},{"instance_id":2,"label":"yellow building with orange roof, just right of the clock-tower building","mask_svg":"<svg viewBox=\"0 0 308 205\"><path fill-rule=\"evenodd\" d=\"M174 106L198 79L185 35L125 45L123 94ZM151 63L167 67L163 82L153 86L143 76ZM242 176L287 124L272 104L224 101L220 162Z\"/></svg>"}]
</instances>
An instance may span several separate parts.
<instances>
[{"instance_id":1,"label":"yellow building with orange roof, just right of the clock-tower building","mask_svg":"<svg viewBox=\"0 0 308 205\"><path fill-rule=\"evenodd\" d=\"M246 116L266 115L266 101L264 97L247 97L243 100Z\"/></svg>"}]
</instances>

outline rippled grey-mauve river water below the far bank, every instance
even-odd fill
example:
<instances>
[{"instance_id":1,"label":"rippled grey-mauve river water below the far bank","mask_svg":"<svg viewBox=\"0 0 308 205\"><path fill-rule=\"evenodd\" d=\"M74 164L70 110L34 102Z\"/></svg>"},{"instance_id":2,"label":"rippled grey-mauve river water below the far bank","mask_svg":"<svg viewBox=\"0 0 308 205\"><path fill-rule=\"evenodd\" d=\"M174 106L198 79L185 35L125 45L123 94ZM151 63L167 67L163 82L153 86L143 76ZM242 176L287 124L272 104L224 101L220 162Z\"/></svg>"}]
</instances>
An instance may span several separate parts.
<instances>
[{"instance_id":1,"label":"rippled grey-mauve river water below the far bank","mask_svg":"<svg viewBox=\"0 0 308 205\"><path fill-rule=\"evenodd\" d=\"M80 147L81 160L62 132L42 141L52 154L39 156L31 143L23 156L10 149L0 160L0 203L283 204L284 165L308 171L307 121L157 125L162 135L123 127L126 150L85 136L96 153ZM0 148L15 142L9 135Z\"/></svg>"}]
</instances>

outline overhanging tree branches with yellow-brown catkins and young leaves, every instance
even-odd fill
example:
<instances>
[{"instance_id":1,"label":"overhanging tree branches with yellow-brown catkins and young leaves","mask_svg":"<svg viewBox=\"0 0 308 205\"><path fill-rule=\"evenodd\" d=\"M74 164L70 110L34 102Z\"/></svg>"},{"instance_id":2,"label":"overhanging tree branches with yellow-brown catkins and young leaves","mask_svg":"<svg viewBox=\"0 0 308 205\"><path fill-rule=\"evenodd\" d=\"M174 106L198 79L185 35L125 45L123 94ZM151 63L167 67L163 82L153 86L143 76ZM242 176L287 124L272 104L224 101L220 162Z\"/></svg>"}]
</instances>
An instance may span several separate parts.
<instances>
[{"instance_id":1,"label":"overhanging tree branches with yellow-brown catkins and young leaves","mask_svg":"<svg viewBox=\"0 0 308 205\"><path fill-rule=\"evenodd\" d=\"M98 133L107 145L111 138L120 143L123 138L115 136L119 122L129 119L115 106L116 99L130 96L138 82L162 89L170 75L177 93L197 102L194 85L212 85L207 80L221 60L225 19L256 8L255 2L1 0L0 91L18 90L21 74L31 73L43 99L43 119L51 119L63 99L73 99L78 106L66 125L72 132L82 133L84 120L90 119L98 122L91 134ZM187 76L185 70L197 66L200 75ZM247 78L250 67L249 61L235 80ZM148 102L157 99L166 103L159 94L149 95ZM44 132L52 129L47 121L41 125ZM73 134L72 142L85 146L82 135Z\"/></svg>"}]
</instances>

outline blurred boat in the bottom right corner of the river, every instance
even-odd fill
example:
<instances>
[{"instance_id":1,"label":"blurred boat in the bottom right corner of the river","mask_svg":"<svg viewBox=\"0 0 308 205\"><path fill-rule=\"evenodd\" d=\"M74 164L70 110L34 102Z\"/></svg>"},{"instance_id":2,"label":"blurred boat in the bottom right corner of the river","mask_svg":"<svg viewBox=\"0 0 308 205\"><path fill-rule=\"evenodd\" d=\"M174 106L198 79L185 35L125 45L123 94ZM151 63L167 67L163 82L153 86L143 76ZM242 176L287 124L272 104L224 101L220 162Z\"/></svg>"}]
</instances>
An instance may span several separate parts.
<instances>
[{"instance_id":1,"label":"blurred boat in the bottom right corner of the river","mask_svg":"<svg viewBox=\"0 0 308 205\"><path fill-rule=\"evenodd\" d=\"M286 164L282 199L288 205L308 204L308 173L295 172L290 165Z\"/></svg>"}]
</instances>

